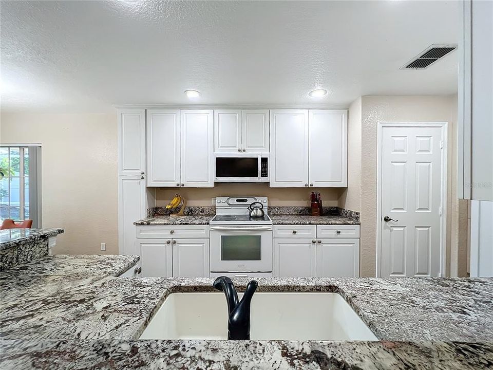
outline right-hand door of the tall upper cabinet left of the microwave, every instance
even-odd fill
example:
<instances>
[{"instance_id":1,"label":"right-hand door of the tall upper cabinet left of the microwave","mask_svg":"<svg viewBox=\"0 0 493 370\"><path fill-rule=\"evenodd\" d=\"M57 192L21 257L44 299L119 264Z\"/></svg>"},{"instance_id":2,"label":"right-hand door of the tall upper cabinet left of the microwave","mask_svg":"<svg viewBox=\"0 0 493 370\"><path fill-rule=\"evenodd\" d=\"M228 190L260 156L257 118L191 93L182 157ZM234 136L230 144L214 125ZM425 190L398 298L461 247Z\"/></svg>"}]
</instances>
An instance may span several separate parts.
<instances>
[{"instance_id":1,"label":"right-hand door of the tall upper cabinet left of the microwave","mask_svg":"<svg viewBox=\"0 0 493 370\"><path fill-rule=\"evenodd\" d=\"M214 111L181 111L181 186L214 187Z\"/></svg>"}]
</instances>

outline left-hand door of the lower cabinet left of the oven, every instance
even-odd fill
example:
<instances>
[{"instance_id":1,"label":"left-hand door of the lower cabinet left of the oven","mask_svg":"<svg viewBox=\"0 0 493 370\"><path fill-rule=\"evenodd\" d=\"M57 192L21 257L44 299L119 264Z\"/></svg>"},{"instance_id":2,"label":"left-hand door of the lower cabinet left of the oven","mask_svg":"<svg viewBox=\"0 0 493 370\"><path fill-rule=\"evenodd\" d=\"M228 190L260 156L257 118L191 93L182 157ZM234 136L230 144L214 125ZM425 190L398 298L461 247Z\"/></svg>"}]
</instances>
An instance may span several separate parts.
<instances>
[{"instance_id":1,"label":"left-hand door of the lower cabinet left of the oven","mask_svg":"<svg viewBox=\"0 0 493 370\"><path fill-rule=\"evenodd\" d=\"M173 257L171 239L137 239L142 278L171 278Z\"/></svg>"}]
</instances>

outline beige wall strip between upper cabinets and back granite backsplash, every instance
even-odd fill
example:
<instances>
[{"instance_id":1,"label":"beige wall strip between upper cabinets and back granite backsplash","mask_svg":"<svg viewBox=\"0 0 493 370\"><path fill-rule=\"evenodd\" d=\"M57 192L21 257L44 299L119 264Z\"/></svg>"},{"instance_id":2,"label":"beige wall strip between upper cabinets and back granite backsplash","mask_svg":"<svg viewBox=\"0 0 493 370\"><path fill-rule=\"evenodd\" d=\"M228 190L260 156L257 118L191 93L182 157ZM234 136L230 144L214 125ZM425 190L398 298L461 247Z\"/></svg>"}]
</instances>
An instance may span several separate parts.
<instances>
[{"instance_id":1,"label":"beige wall strip between upper cabinets and back granite backsplash","mask_svg":"<svg viewBox=\"0 0 493 370\"><path fill-rule=\"evenodd\" d=\"M337 206L339 193L343 189L327 188L270 188L269 184L216 184L214 188L158 188L156 204L165 206L175 193L187 199L189 206L210 206L216 196L259 195L269 198L271 206L309 206L310 192L319 191L324 206Z\"/></svg>"}]
</instances>

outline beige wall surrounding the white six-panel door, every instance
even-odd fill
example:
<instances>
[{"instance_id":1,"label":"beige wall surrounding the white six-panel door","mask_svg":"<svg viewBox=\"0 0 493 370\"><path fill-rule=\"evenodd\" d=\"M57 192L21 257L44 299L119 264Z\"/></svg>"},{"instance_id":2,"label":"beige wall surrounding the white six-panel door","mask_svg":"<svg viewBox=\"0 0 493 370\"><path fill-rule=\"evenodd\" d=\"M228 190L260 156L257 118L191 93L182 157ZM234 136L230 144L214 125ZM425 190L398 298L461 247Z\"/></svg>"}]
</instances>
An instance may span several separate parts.
<instances>
[{"instance_id":1,"label":"beige wall surrounding the white six-panel door","mask_svg":"<svg viewBox=\"0 0 493 370\"><path fill-rule=\"evenodd\" d=\"M378 121L446 121L449 138L457 125L453 112L457 110L457 96L365 96L362 97L361 136L361 275L375 276L376 261L376 135ZM455 116L456 117L456 116ZM349 147L351 148L351 142ZM448 195L447 195L447 256L450 258L451 199L456 182L452 162L457 162L456 148L449 140ZM456 164L457 165L457 164ZM349 197L349 195L348 195ZM452 227L451 227L452 226ZM456 224L456 227L458 225ZM449 273L449 268L447 268Z\"/></svg>"}]
</instances>

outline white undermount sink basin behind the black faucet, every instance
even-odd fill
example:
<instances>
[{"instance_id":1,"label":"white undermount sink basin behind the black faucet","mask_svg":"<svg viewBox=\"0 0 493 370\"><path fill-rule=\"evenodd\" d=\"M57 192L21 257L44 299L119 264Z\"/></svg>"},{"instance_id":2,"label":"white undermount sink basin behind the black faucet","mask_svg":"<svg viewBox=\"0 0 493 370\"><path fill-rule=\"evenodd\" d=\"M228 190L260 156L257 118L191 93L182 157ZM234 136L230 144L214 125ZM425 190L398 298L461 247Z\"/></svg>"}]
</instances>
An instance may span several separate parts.
<instances>
[{"instance_id":1,"label":"white undermount sink basin behind the black faucet","mask_svg":"<svg viewBox=\"0 0 493 370\"><path fill-rule=\"evenodd\" d=\"M250 327L252 340L378 340L337 293L255 293ZM170 294L140 339L227 339L224 293Z\"/></svg>"}]
</instances>

